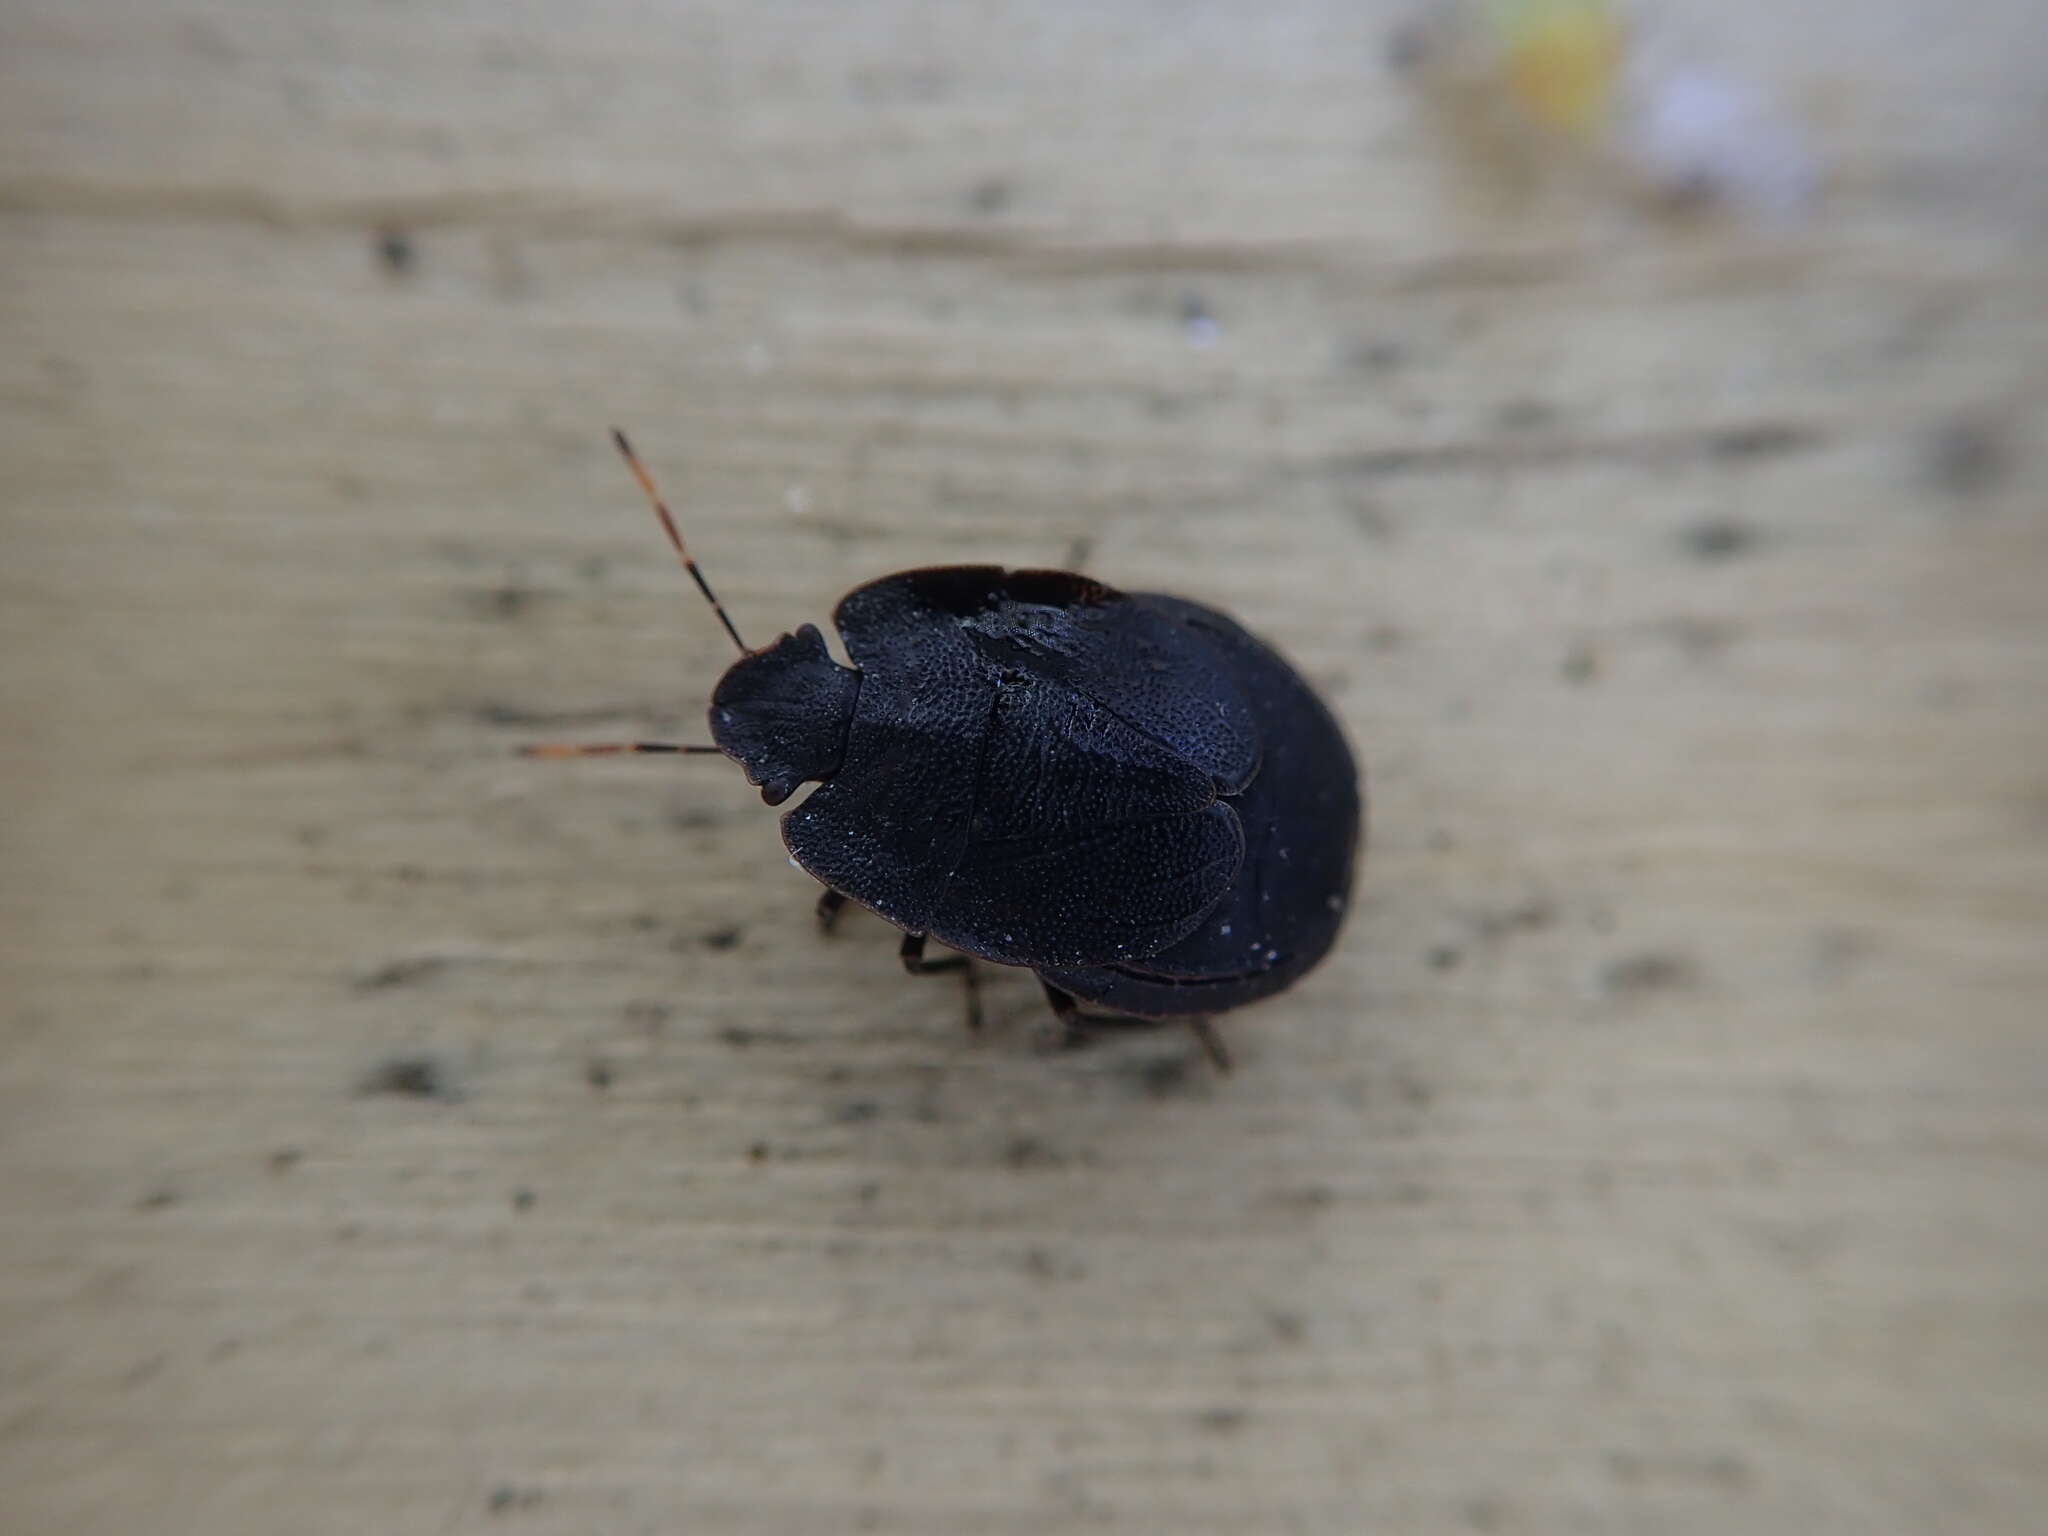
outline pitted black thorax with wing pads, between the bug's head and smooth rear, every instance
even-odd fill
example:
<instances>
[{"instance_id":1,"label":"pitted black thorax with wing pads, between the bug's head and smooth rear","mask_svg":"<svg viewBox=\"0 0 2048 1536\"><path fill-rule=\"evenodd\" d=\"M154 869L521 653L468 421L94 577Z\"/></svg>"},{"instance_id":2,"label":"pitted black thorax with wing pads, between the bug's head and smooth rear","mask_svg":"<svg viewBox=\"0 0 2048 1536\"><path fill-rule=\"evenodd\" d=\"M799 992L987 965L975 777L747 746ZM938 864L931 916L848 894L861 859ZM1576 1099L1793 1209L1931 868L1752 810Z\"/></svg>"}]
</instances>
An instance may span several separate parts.
<instances>
[{"instance_id":1,"label":"pitted black thorax with wing pads, between the bug's head and smooth rear","mask_svg":"<svg viewBox=\"0 0 2048 1536\"><path fill-rule=\"evenodd\" d=\"M838 608L846 760L782 817L817 879L1006 965L1176 944L1229 891L1253 713L1174 616L1063 571L903 571Z\"/></svg>"}]
</instances>

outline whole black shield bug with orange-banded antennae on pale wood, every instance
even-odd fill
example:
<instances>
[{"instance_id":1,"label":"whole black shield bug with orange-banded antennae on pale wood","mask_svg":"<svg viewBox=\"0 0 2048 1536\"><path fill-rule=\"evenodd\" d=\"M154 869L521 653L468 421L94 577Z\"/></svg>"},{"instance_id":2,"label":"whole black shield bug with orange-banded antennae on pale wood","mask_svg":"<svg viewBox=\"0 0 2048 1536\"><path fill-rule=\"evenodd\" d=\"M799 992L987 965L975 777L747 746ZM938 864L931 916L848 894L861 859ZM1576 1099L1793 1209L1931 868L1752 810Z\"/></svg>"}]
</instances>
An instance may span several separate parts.
<instances>
[{"instance_id":1,"label":"whole black shield bug with orange-banded antennae on pale wood","mask_svg":"<svg viewBox=\"0 0 2048 1536\"><path fill-rule=\"evenodd\" d=\"M825 887L819 918L881 913L918 975L973 987L965 956L1034 971L1067 1042L1182 1020L1227 1065L1208 1016L1329 950L1358 768L1315 690L1233 618L1073 571L934 565L840 600L850 668L815 625L750 649L612 438L741 655L711 696L717 745L528 754L723 752L768 805L815 782L782 840ZM928 961L928 938L961 954Z\"/></svg>"}]
</instances>

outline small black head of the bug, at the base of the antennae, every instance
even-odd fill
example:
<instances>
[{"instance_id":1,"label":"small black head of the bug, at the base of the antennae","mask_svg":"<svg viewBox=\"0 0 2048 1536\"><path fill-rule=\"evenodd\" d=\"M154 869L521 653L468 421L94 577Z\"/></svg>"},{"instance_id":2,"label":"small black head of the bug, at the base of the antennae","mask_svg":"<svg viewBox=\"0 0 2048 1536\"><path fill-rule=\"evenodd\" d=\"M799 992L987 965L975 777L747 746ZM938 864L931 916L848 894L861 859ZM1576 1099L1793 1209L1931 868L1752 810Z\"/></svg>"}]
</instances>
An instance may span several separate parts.
<instances>
[{"instance_id":1,"label":"small black head of the bug, at the base of the antennae","mask_svg":"<svg viewBox=\"0 0 2048 1536\"><path fill-rule=\"evenodd\" d=\"M825 651L817 625L741 655L711 694L711 739L748 770L768 805L831 778L846 756L860 674Z\"/></svg>"}]
</instances>

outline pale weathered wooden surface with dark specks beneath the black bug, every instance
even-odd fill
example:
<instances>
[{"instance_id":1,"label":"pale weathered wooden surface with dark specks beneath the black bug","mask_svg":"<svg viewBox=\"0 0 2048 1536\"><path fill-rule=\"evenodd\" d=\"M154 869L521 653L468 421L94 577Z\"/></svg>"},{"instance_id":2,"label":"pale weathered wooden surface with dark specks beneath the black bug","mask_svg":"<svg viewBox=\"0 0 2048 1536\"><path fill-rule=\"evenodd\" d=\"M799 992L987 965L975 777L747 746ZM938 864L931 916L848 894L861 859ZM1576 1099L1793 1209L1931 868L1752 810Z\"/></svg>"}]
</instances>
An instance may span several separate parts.
<instances>
[{"instance_id":1,"label":"pale weathered wooden surface with dark specks beneath the black bug","mask_svg":"<svg viewBox=\"0 0 2048 1536\"><path fill-rule=\"evenodd\" d=\"M1808 223L1360 0L12 0L0 1526L2038 1530L2048 39L1696 12ZM610 422L748 635L1087 541L1327 686L1235 1077L510 756L727 662Z\"/></svg>"}]
</instances>

